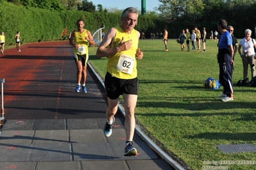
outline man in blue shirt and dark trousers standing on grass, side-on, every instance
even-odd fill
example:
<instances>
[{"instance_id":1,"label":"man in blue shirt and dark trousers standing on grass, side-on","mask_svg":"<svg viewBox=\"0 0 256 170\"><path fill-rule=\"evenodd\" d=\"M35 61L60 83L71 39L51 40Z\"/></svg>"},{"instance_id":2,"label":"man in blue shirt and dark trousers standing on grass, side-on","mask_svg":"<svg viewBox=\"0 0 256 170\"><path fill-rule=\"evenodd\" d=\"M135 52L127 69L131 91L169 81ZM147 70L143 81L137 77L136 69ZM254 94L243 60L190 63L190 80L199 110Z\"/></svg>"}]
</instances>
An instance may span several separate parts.
<instances>
[{"instance_id":1,"label":"man in blue shirt and dark trousers standing on grass, side-on","mask_svg":"<svg viewBox=\"0 0 256 170\"><path fill-rule=\"evenodd\" d=\"M232 45L232 36L226 27L228 23L225 19L220 19L218 22L218 30L221 32L218 50L219 63L219 81L223 86L223 93L219 96L223 102L234 100L233 98L233 81L232 81L232 65L234 65L233 56L234 49Z\"/></svg>"}]
</instances>

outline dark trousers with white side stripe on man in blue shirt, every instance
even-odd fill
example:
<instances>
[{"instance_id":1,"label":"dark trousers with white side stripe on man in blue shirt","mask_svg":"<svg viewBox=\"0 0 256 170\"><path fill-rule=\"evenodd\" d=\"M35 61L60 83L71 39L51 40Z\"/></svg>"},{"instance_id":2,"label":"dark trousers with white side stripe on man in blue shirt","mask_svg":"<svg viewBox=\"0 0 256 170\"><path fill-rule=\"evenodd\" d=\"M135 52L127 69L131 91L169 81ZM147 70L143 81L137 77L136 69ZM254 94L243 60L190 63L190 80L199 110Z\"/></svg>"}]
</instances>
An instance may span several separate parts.
<instances>
[{"instance_id":1,"label":"dark trousers with white side stripe on man in blue shirt","mask_svg":"<svg viewBox=\"0 0 256 170\"><path fill-rule=\"evenodd\" d=\"M223 86L223 93L228 97L233 97L232 65L231 57L225 54L225 59L219 62L219 82Z\"/></svg>"}]
</instances>

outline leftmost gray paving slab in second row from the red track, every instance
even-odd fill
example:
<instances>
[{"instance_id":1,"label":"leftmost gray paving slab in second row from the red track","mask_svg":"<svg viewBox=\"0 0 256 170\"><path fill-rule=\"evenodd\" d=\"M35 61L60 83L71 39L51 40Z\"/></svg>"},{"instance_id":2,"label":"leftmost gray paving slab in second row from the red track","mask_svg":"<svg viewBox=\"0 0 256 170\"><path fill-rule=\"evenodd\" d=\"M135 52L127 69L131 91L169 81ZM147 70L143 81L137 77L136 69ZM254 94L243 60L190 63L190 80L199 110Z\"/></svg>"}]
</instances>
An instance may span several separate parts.
<instances>
[{"instance_id":1,"label":"leftmost gray paving slab in second row from the red track","mask_svg":"<svg viewBox=\"0 0 256 170\"><path fill-rule=\"evenodd\" d=\"M31 144L35 130L3 130L0 143Z\"/></svg>"}]
</instances>

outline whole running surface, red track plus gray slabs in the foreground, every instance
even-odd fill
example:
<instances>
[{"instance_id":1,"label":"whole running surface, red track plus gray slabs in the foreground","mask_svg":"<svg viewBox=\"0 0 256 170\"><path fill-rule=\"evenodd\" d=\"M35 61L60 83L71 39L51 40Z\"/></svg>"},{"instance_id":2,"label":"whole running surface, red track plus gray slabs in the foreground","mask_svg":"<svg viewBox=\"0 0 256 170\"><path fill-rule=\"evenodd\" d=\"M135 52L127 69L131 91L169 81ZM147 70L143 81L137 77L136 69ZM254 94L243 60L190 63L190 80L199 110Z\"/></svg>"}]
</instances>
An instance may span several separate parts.
<instances>
[{"instance_id":1,"label":"whole running surface, red track plus gray slabs in the foreground","mask_svg":"<svg viewBox=\"0 0 256 170\"><path fill-rule=\"evenodd\" d=\"M124 157L124 118L103 135L104 89L87 72L88 93L76 93L76 67L68 42L22 45L0 56L4 117L0 169L173 169L135 134L138 155Z\"/></svg>"}]
</instances>

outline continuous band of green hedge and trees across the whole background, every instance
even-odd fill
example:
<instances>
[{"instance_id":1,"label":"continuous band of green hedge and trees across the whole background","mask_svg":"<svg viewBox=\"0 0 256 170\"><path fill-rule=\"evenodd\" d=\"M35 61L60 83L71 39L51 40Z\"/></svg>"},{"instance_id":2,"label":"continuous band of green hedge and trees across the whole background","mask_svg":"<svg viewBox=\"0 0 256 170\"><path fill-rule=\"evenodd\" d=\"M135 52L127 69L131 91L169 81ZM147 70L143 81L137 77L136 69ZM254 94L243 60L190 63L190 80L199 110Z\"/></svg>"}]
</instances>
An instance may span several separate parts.
<instances>
[{"instance_id":1,"label":"continuous band of green hedge and trees across the whole background","mask_svg":"<svg viewBox=\"0 0 256 170\"><path fill-rule=\"evenodd\" d=\"M158 1L160 4L155 11L139 15L135 27L144 32L146 38L150 38L150 33L162 32L164 27L169 32L168 38L178 38L182 29L189 28L191 31L195 26L200 30L205 27L207 35L210 35L210 31L218 31L219 19L226 19L234 27L237 38L243 38L244 30L248 28L255 37L254 0ZM24 42L58 40L64 30L68 33L76 29L75 21L80 18L85 20L85 27L91 32L102 25L109 29L119 24L123 10L103 9L101 4L96 5L88 0L0 0L0 3L4 3L0 4L0 31L7 31L8 35L13 27L20 31L32 29L30 35L25 34ZM39 26L34 26L33 22ZM40 33L34 31L38 28L42 30Z\"/></svg>"}]
</instances>

